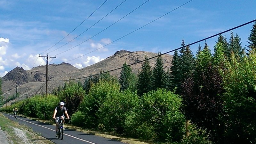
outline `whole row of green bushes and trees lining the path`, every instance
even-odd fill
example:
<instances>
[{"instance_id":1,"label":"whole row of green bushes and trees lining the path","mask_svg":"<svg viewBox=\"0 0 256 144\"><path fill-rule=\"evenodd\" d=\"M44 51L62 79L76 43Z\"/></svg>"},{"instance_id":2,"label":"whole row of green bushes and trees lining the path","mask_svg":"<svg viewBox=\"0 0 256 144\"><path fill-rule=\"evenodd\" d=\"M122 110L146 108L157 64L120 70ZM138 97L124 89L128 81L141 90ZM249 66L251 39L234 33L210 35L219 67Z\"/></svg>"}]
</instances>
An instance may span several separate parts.
<instances>
[{"instance_id":1,"label":"whole row of green bushes and trees lining the path","mask_svg":"<svg viewBox=\"0 0 256 144\"><path fill-rule=\"evenodd\" d=\"M170 69L161 56L154 67L145 56L138 76L124 63L119 78L100 72L2 111L15 105L51 119L64 101L71 123L84 128L164 143L256 143L256 23L246 47L233 32L219 35L213 52L206 41L195 55L184 46Z\"/></svg>"}]
</instances>

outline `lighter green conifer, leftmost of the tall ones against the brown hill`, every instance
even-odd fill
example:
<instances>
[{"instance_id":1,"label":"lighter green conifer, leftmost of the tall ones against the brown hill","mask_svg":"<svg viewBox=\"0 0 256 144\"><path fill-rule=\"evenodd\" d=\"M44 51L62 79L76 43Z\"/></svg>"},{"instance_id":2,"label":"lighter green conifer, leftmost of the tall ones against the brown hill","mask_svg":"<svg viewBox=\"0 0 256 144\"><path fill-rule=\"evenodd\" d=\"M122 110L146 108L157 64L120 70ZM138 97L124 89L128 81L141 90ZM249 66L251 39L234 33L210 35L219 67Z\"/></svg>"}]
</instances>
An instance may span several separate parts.
<instances>
[{"instance_id":1,"label":"lighter green conifer, leftmost of the tall ones against the brown hill","mask_svg":"<svg viewBox=\"0 0 256 144\"><path fill-rule=\"evenodd\" d=\"M123 64L123 67L118 79L121 85L120 90L130 89L135 91L136 76L132 73L132 68L127 66L126 62Z\"/></svg>"}]
</instances>

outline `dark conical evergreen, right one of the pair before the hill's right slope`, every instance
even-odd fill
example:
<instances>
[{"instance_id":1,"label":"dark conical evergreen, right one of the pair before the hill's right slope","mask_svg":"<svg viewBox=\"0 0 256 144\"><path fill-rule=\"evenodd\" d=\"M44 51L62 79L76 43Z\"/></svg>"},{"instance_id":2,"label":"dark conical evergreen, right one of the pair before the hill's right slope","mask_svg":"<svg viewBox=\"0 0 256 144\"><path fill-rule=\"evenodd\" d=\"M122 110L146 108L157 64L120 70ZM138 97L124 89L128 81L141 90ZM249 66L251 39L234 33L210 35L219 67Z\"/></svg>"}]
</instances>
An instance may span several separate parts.
<instances>
[{"instance_id":1,"label":"dark conical evergreen, right one of the pair before the hill's right slope","mask_svg":"<svg viewBox=\"0 0 256 144\"><path fill-rule=\"evenodd\" d=\"M158 53L160 55L161 53ZM167 73L164 71L164 63L162 56L156 58L155 67L153 69L152 90L157 88L167 88Z\"/></svg>"}]
</instances>

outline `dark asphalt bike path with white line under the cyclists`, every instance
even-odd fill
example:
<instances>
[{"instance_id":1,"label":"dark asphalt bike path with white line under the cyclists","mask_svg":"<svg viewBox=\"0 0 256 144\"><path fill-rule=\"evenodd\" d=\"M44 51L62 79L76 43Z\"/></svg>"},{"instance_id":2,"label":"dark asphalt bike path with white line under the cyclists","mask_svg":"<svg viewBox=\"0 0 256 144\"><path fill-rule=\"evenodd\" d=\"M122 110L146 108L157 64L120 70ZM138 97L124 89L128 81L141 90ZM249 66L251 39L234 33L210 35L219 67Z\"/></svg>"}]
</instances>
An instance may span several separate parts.
<instances>
[{"instance_id":1,"label":"dark asphalt bike path with white line under the cyclists","mask_svg":"<svg viewBox=\"0 0 256 144\"><path fill-rule=\"evenodd\" d=\"M102 138L96 135L90 135L82 132L77 132L70 129L64 130L64 138L60 140L55 137L55 126L47 123L38 122L35 120L23 118L17 116L17 119L13 118L13 114L3 113L5 117L11 119L12 121L19 122L20 125L29 126L34 132L41 133L41 136L56 144L124 144L120 141L110 140L107 138Z\"/></svg>"}]
</instances>

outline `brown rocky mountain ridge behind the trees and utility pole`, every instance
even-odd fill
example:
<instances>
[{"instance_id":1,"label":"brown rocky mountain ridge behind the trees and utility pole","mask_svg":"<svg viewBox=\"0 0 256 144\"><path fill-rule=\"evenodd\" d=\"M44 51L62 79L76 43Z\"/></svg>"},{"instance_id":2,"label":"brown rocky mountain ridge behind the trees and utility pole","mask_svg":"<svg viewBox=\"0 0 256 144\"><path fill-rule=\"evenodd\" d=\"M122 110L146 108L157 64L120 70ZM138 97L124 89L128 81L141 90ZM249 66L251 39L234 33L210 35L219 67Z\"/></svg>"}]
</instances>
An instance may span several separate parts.
<instances>
[{"instance_id":1,"label":"brown rocky mountain ridge behind the trees and utility pole","mask_svg":"<svg viewBox=\"0 0 256 144\"><path fill-rule=\"evenodd\" d=\"M97 62L93 65L87 66L85 68L75 68L69 63L60 63L60 64L50 64L48 65L48 94L54 90L55 87L59 85L63 85L65 82L68 82L70 79L78 79L82 83L84 82L84 78L86 76L90 76L99 73L100 71L109 71L116 68L121 68L126 62L128 65L133 64L139 61L145 60L145 55L148 58L157 56L158 54L152 52L145 51L134 51L130 52L127 50L116 51L113 55L107 57L106 59ZM164 68L165 70L171 67L172 55L164 54L162 55ZM156 58L150 59L150 65L153 68L155 64ZM141 68L142 62L138 64L134 64L131 66L132 71L135 74L138 74ZM17 67L16 67L17 68ZM15 68L14 68L15 69ZM23 68L22 68L23 69ZM119 77L122 69L118 69L115 71L111 71L110 74L112 76ZM11 70L12 71L12 70ZM28 80L26 82L22 82L18 86L18 91L20 92L20 97L17 100L22 100L28 97L35 95L36 93L45 94L45 80L46 80L46 65L38 66L26 71ZM25 74L24 74L25 75ZM3 92L9 91L12 93L16 92L16 81L13 80L5 80L3 77L2 89ZM63 81L66 80L66 81ZM4 95L4 94L3 94ZM10 105L12 101L8 102L7 105Z\"/></svg>"}]
</instances>

